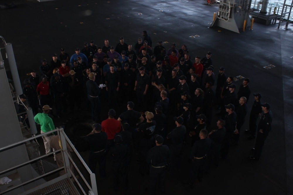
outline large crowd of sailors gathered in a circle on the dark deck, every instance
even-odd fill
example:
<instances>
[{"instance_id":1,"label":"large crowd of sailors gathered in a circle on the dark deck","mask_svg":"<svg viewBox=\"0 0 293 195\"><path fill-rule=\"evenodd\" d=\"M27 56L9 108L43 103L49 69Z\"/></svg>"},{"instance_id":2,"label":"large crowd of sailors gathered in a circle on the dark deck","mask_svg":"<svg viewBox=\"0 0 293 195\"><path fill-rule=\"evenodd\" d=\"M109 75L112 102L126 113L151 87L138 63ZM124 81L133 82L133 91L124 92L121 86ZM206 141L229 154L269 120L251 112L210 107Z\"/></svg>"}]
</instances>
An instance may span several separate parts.
<instances>
[{"instance_id":1,"label":"large crowd of sailors gathered in a circle on the dark deck","mask_svg":"<svg viewBox=\"0 0 293 195\"><path fill-rule=\"evenodd\" d=\"M88 165L95 173L98 163L104 179L105 159L110 153L115 191L119 188L119 174L124 190L128 188L127 172L134 152L139 156L139 173L150 177L146 190L154 194L159 184L164 192L166 170L177 174L182 151L190 140L190 177L183 185L193 188L206 170L218 167L220 158L227 158L231 145L239 144L251 96L250 79L236 79L243 79L237 90L235 78L227 77L224 67L213 66L211 51L203 58L192 58L185 44L179 50L175 43L165 48L161 40L152 46L147 31L142 35L134 46L125 43L123 37L115 47L108 39L101 47L90 40L84 48L76 47L72 56L61 48L59 57L53 54L50 61L41 59L41 80L35 70L31 71L30 78L23 82L20 99L33 109L34 115L38 106L43 108L48 118L91 110L96 125L86 136L91 146ZM246 132L250 133L248 139L256 137L254 155L249 158L258 160L271 130L272 113L268 103L260 102L260 93L253 93L253 97ZM52 100L55 108L51 110ZM107 103L107 120L101 119L101 102ZM116 115L117 108L125 105L127 110ZM22 104L17 107L23 111ZM216 114L214 109L218 110ZM24 118L21 115L21 120ZM213 120L217 128L212 130ZM176 127L172 130L170 124ZM45 131L41 126L41 132L51 126L50 123ZM170 146L163 144L166 139L170 139ZM45 141L48 146L48 139Z\"/></svg>"}]
</instances>

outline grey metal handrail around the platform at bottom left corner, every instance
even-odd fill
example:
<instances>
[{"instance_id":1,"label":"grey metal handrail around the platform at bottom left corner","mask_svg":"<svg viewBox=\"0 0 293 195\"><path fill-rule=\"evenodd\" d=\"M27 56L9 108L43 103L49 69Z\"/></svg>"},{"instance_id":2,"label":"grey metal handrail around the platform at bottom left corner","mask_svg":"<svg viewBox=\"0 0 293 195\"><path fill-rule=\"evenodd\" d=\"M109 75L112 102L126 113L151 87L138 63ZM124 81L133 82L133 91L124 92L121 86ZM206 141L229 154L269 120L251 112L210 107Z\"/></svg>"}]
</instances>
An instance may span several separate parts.
<instances>
[{"instance_id":1,"label":"grey metal handrail around the platform at bottom left corner","mask_svg":"<svg viewBox=\"0 0 293 195\"><path fill-rule=\"evenodd\" d=\"M95 195L98 195L98 190L97 190L97 186L96 186L96 177L95 177L95 174L91 172L91 170L88 168L88 166L86 165L86 163L84 162L84 160L81 158L81 156L79 155L79 153L78 153L77 150L75 149L74 145L71 143L71 141L69 140L69 138L68 138L67 135L65 134L63 128L61 128L61 129L56 128L55 130L52 130L52 131L49 131L49 132L46 132L46 133L42 133L42 134L37 135L37 136L34 136L34 137L30 137L30 138L28 138L28 139L24 139L24 140L22 140L22 141L18 141L18 142L16 142L16 143L14 143L14 144L10 144L10 145L8 145L8 146L4 146L4 147L0 148L0 152L1 152L1 151L4 151L4 150L6 150L6 149L12 148L12 147L14 147L14 146L18 146L18 145L20 145L20 144L23 144L23 143L25 143L25 142L27 142L27 141L30 141L30 140L36 139L36 138L38 138L38 137L42 137L43 135L52 134L53 132L57 132L57 135L58 135L58 137L59 137L59 139L61 140L61 143L62 143L62 149L59 149L59 150L56 150L56 151L53 151L53 152L47 153L47 154L45 154L45 155L39 156L39 157L37 157L37 158L34 158L34 159L30 160L30 161L26 161L26 162L24 162L24 163L21 163L20 165L16 165L16 166L14 166L14 167L12 167L12 168L6 169L6 170L0 172L0 175L1 175L2 173L4 173L4 172L9 171L9 170L13 170L13 169L16 169L16 168L18 168L18 167L21 167L21 166L23 166L23 165L26 165L26 164L32 163L32 162L34 162L34 161L36 161L36 160L38 160L38 159L41 159L41 158L43 158L43 157L45 157L45 156L49 156L49 155L51 155L51 154L53 154L53 153L61 152L63 158L65 157L64 154L66 154L66 156L67 156L67 158L69 159L69 161L72 163L72 165L74 166L74 168L75 168L75 169L77 170L77 172L80 174L82 180L84 181L84 183L86 184L86 186L87 186L88 189L89 189L88 192L89 192L89 193L91 192L91 193L93 193L93 194L95 194ZM61 132L61 133L60 133L60 132ZM61 134L62 134L62 135L61 135ZM63 140L64 140L64 141L63 141ZM76 154L76 156L79 158L79 160L81 161L82 165L86 168L86 170L87 170L88 173L90 174L90 178L91 178L91 186L88 184L88 182L86 181L86 179L84 178L84 176L81 174L80 170L78 169L78 167L77 167L76 164L74 163L73 159L70 157L69 153L67 152L66 141L67 141L67 143L69 144L69 146L72 148L72 150L74 151L74 153ZM68 162L68 161L67 161L67 162ZM28 180L28 181L26 181L26 182L23 182L23 183L21 183L21 184L19 184L19 185L17 185L17 186L14 186L14 187L12 187L12 188L10 188L10 189L7 189L6 191L3 191L3 192L1 192L1 193L5 193L5 192L8 192L8 191L11 191L12 189L16 189L16 188L18 188L18 187L23 186L24 184L27 184L27 183L33 182L33 181L38 180L38 179L40 179L40 178L42 178L42 177L44 177L44 176L46 176L46 175L52 174L52 173L54 173L54 172L57 172L57 171L63 169L63 170L65 170L67 173L69 172L70 175L72 175L72 177L73 177L74 180L76 181L76 183L77 183L77 185L79 186L79 188L81 189L81 191L82 191L84 194L86 194L86 192L85 192L84 189L82 188L81 184L79 184L79 182L77 181L76 177L74 176L74 173L73 173L73 172L71 171L71 169L68 168L68 167L70 167L70 165L67 165L67 164L66 164L66 161L64 160L64 166L63 166L63 167L60 167L60 168L54 169L54 170L52 170L52 171L50 171L50 172L47 172L47 173L45 173L45 174L43 174L43 175L40 175L40 176L35 177L35 178L31 179L31 180ZM61 177L61 176L59 176L59 177Z\"/></svg>"}]
</instances>

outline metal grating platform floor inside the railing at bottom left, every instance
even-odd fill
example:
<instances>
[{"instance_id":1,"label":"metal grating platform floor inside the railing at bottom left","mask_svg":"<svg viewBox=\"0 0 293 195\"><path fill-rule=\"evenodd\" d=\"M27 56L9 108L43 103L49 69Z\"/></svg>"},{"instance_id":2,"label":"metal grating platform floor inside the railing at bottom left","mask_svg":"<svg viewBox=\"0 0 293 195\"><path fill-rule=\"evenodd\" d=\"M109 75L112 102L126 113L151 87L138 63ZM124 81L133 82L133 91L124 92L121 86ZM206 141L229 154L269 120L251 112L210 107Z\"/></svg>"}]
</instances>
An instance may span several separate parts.
<instances>
[{"instance_id":1,"label":"metal grating platform floor inside the railing at bottom left","mask_svg":"<svg viewBox=\"0 0 293 195\"><path fill-rule=\"evenodd\" d=\"M66 178L28 195L79 195L79 193L69 178Z\"/></svg>"}]
</instances>

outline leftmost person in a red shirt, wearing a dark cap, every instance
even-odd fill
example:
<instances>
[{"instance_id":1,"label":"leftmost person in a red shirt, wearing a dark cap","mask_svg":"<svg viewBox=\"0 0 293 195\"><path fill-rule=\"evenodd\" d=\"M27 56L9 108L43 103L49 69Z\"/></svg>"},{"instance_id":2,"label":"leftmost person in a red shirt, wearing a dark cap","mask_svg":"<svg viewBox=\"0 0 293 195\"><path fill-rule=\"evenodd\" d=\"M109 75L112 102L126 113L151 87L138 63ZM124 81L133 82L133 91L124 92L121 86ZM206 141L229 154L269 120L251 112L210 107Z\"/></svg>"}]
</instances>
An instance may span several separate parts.
<instances>
[{"instance_id":1,"label":"leftmost person in a red shirt, wearing a dark cap","mask_svg":"<svg viewBox=\"0 0 293 195\"><path fill-rule=\"evenodd\" d=\"M41 108L45 105L51 107L51 97L49 92L49 82L47 75L42 75L42 81L37 86L38 99L40 100Z\"/></svg>"}]
</instances>

